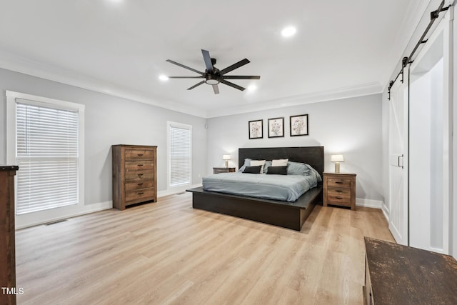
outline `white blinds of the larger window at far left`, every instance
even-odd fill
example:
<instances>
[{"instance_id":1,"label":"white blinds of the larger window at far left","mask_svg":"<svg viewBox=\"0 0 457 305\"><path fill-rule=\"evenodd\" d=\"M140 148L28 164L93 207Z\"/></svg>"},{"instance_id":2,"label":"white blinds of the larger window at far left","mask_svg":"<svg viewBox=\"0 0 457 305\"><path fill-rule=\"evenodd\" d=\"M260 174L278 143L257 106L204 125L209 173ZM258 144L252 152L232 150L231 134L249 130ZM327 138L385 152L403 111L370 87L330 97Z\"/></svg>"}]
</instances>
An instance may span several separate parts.
<instances>
[{"instance_id":1,"label":"white blinds of the larger window at far left","mask_svg":"<svg viewBox=\"0 0 457 305\"><path fill-rule=\"evenodd\" d=\"M19 101L16 214L78 204L78 111Z\"/></svg>"}]
</instances>

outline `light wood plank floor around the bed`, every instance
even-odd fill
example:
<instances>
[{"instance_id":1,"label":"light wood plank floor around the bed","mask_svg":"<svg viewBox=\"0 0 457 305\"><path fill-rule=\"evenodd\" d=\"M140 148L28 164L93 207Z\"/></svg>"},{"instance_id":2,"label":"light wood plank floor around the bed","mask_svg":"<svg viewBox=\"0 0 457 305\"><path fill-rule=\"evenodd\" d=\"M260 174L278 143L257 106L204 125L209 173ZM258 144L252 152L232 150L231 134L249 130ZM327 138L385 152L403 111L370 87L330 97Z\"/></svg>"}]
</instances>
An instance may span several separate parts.
<instances>
[{"instance_id":1,"label":"light wood plank floor around the bed","mask_svg":"<svg viewBox=\"0 0 457 305\"><path fill-rule=\"evenodd\" d=\"M363 304L381 210L316 206L300 232L191 207L191 194L16 233L18 304Z\"/></svg>"}]
</instances>

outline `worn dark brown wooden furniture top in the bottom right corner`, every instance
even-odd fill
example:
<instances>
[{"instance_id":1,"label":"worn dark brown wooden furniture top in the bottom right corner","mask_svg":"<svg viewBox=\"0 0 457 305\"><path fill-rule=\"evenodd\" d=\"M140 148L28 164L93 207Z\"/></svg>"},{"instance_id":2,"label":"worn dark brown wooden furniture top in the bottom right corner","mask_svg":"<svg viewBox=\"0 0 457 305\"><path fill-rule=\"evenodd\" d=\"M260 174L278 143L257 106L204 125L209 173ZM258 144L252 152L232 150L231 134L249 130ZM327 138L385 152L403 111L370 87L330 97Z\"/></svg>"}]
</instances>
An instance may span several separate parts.
<instances>
[{"instance_id":1,"label":"worn dark brown wooden furniture top in the bottom right corner","mask_svg":"<svg viewBox=\"0 0 457 305\"><path fill-rule=\"evenodd\" d=\"M452 256L365 237L365 304L457 304Z\"/></svg>"}]
</instances>

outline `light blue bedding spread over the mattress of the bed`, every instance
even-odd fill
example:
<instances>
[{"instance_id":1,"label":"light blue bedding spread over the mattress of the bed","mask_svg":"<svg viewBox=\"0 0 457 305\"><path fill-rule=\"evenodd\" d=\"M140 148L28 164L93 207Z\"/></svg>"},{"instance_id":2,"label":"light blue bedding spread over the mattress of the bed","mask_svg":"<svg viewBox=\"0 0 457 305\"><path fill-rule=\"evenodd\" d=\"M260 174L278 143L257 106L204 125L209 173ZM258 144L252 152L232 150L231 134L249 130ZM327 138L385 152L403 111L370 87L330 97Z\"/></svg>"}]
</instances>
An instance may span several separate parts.
<instances>
[{"instance_id":1,"label":"light blue bedding spread over the mattress of the bed","mask_svg":"<svg viewBox=\"0 0 457 305\"><path fill-rule=\"evenodd\" d=\"M293 202L308 189L316 187L318 181L321 181L321 176L314 169L305 176L245 174L238 171L205 176L203 188L205 191Z\"/></svg>"}]
</instances>

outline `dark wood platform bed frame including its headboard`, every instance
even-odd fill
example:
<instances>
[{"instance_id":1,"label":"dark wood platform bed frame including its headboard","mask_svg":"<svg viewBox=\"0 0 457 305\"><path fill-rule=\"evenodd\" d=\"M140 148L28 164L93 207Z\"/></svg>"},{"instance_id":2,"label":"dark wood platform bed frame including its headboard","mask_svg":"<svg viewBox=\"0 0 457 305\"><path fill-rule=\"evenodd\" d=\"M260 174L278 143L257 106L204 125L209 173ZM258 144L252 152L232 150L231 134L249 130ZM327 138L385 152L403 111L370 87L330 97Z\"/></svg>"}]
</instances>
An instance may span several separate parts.
<instances>
[{"instance_id":1,"label":"dark wood platform bed frame including its headboard","mask_svg":"<svg viewBox=\"0 0 457 305\"><path fill-rule=\"evenodd\" d=\"M289 161L303 162L313 166L321 176L323 173L323 146L238 149L238 167L243 166L246 158L254 160L288 158ZM214 211L297 231L301 230L301 226L313 211L316 203L322 202L321 183L294 202L204 191L203 187L187 191L192 192L194 209Z\"/></svg>"}]
</instances>

